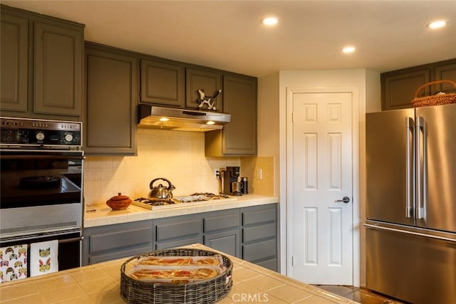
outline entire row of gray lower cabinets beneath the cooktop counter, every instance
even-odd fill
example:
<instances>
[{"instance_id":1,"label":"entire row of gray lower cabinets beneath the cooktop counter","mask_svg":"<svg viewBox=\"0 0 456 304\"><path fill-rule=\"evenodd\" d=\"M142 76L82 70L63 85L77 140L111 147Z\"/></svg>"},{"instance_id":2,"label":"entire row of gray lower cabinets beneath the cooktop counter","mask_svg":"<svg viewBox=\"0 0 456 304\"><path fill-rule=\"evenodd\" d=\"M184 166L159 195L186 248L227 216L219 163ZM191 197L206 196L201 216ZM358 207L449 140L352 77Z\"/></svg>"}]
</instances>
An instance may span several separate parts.
<instances>
[{"instance_id":1,"label":"entire row of gray lower cabinets beneath the cooktop counter","mask_svg":"<svg viewBox=\"0 0 456 304\"><path fill-rule=\"evenodd\" d=\"M191 243L277 270L276 204L84 229L83 265Z\"/></svg>"}]
</instances>

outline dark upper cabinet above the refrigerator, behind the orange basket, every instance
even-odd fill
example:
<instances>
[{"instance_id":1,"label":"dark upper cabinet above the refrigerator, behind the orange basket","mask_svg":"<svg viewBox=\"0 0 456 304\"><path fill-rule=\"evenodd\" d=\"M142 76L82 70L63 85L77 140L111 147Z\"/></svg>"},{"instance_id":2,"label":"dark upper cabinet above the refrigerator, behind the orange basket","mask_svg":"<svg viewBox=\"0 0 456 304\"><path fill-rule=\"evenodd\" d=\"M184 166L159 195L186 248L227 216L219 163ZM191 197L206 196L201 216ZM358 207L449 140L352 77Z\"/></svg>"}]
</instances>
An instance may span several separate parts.
<instances>
[{"instance_id":1,"label":"dark upper cabinet above the refrigerator, behind the orange basket","mask_svg":"<svg viewBox=\"0 0 456 304\"><path fill-rule=\"evenodd\" d=\"M382 73L382 110L413 108L412 100L418 88L435 80L456 81L456 59ZM456 90L448 83L429 85L420 90L417 97L434 95L440 91L454 93Z\"/></svg>"}]
</instances>

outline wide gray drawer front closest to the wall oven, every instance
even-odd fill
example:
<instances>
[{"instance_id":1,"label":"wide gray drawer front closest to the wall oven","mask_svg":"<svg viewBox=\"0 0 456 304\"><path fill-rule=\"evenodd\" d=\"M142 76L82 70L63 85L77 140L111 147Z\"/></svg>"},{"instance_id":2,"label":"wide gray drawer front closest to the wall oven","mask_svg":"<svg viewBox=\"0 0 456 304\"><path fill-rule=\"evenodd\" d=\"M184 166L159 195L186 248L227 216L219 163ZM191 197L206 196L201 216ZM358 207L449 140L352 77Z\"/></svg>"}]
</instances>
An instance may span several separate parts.
<instances>
[{"instance_id":1,"label":"wide gray drawer front closest to the wall oven","mask_svg":"<svg viewBox=\"0 0 456 304\"><path fill-rule=\"evenodd\" d=\"M106 234L94 234L90 236L89 253L146 243L152 243L152 231L150 227L121 232L115 231Z\"/></svg>"}]
</instances>

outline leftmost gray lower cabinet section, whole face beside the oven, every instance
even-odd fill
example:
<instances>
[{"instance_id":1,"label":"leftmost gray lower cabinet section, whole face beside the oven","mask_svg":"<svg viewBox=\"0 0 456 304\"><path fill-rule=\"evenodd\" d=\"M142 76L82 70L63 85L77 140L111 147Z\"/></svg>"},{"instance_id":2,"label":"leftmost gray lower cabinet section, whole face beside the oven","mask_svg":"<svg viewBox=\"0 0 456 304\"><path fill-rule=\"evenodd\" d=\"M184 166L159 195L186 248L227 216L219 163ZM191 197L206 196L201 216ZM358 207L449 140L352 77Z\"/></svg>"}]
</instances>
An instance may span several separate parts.
<instances>
[{"instance_id":1,"label":"leftmost gray lower cabinet section, whole face beside the oven","mask_svg":"<svg viewBox=\"0 0 456 304\"><path fill-rule=\"evenodd\" d=\"M86 228L83 265L153 251L152 220Z\"/></svg>"}]
</instances>

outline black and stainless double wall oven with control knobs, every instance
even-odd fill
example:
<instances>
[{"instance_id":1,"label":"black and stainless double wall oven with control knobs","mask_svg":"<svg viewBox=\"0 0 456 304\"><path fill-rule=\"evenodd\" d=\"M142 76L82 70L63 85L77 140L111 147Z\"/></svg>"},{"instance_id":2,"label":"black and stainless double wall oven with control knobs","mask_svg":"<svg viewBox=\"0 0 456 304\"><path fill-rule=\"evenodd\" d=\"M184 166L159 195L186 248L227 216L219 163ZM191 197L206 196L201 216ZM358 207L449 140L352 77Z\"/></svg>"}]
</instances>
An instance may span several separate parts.
<instances>
[{"instance_id":1,"label":"black and stainless double wall oven with control knobs","mask_svg":"<svg viewBox=\"0 0 456 304\"><path fill-rule=\"evenodd\" d=\"M81 266L81 122L0 117L0 130L0 247L58 240L59 270Z\"/></svg>"}]
</instances>

